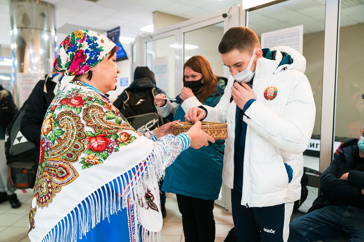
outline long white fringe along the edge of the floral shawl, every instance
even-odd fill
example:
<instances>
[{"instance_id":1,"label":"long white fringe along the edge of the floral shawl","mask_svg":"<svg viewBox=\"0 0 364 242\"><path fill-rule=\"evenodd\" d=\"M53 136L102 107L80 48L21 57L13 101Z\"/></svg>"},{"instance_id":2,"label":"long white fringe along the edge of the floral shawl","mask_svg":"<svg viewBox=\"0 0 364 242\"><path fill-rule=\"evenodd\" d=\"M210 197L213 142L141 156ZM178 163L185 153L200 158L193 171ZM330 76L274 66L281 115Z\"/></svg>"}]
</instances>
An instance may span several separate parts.
<instances>
[{"instance_id":1,"label":"long white fringe along the edge of the floral shawl","mask_svg":"<svg viewBox=\"0 0 364 242\"><path fill-rule=\"evenodd\" d=\"M167 154L155 150L128 172L99 187L59 221L41 242L76 242L78 238L85 237L101 219L106 218L110 222L110 215L117 214L131 205L134 205L135 221L135 231L130 231L131 241L139 242L142 239L143 242L160 242L160 231L148 231L141 227L137 206L138 202L147 206L145 194L150 187L145 185L146 179L151 179L154 190L159 191L158 181L165 172L162 161L167 161Z\"/></svg>"}]
</instances>

